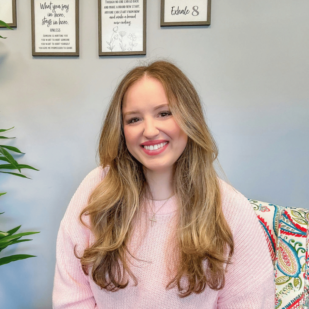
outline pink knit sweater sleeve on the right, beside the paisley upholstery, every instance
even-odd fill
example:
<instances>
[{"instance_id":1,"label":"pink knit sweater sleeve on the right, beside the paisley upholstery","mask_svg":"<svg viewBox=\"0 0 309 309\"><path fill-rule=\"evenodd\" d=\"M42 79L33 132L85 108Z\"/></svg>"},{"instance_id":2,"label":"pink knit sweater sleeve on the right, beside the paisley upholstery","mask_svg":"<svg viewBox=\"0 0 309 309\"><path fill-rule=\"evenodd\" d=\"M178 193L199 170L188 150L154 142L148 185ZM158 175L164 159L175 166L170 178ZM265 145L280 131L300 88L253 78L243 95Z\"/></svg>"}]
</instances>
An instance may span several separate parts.
<instances>
[{"instance_id":1,"label":"pink knit sweater sleeve on the right, beside the paisley upholstery","mask_svg":"<svg viewBox=\"0 0 309 309\"><path fill-rule=\"evenodd\" d=\"M249 201L239 192L240 204L231 229L234 237L232 264L227 265L225 286L219 292L218 309L273 309L275 282L267 241ZM235 216L237 213L237 217ZM230 217L230 218L231 218Z\"/></svg>"}]
</instances>

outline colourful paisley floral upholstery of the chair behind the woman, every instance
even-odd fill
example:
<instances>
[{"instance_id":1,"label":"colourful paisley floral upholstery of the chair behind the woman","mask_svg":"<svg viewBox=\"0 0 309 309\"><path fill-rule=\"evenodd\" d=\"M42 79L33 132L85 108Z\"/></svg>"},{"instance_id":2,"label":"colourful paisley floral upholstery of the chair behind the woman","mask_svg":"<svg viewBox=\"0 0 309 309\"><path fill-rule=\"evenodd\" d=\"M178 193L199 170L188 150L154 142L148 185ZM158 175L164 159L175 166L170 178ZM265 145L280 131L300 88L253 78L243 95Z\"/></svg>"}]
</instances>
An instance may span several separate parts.
<instances>
[{"instance_id":1,"label":"colourful paisley floral upholstery of the chair behind the woman","mask_svg":"<svg viewBox=\"0 0 309 309\"><path fill-rule=\"evenodd\" d=\"M250 200L273 259L275 309L307 309L309 210Z\"/></svg>"}]
</instances>

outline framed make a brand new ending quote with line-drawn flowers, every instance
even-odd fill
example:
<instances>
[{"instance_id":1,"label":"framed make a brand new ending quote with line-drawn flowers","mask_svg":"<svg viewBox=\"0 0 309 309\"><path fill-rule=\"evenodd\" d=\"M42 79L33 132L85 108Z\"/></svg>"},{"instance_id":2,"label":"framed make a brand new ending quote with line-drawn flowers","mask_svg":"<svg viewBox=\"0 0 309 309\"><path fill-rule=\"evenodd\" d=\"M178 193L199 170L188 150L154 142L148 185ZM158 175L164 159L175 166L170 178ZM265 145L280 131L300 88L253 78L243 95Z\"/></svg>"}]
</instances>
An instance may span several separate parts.
<instances>
[{"instance_id":1,"label":"framed make a brand new ending quote with line-drawn flowers","mask_svg":"<svg viewBox=\"0 0 309 309\"><path fill-rule=\"evenodd\" d=\"M98 0L99 56L146 55L146 0Z\"/></svg>"}]
</instances>

